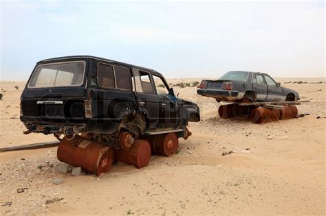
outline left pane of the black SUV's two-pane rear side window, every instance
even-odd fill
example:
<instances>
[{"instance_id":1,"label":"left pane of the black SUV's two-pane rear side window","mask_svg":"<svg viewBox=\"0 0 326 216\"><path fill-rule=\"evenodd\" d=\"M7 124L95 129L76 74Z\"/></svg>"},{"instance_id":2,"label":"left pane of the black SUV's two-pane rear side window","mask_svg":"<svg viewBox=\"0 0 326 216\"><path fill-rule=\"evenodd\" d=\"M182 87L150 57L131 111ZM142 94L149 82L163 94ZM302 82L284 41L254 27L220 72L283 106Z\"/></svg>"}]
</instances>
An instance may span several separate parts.
<instances>
[{"instance_id":1,"label":"left pane of the black SUV's two-pane rear side window","mask_svg":"<svg viewBox=\"0 0 326 216\"><path fill-rule=\"evenodd\" d=\"M98 64L98 85L103 88L115 88L113 66L109 64Z\"/></svg>"}]
</instances>

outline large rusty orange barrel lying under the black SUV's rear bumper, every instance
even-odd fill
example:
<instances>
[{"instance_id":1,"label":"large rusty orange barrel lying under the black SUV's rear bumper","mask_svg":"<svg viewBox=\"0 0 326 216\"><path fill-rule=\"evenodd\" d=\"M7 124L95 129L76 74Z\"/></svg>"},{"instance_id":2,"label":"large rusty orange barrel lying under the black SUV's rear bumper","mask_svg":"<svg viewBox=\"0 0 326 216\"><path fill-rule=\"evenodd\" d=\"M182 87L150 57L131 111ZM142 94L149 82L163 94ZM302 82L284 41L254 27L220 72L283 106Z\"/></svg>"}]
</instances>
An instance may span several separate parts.
<instances>
[{"instance_id":1,"label":"large rusty orange barrel lying under the black SUV's rear bumper","mask_svg":"<svg viewBox=\"0 0 326 216\"><path fill-rule=\"evenodd\" d=\"M58 145L58 160L100 175L111 169L114 150L102 143L81 136L65 136Z\"/></svg>"}]
</instances>

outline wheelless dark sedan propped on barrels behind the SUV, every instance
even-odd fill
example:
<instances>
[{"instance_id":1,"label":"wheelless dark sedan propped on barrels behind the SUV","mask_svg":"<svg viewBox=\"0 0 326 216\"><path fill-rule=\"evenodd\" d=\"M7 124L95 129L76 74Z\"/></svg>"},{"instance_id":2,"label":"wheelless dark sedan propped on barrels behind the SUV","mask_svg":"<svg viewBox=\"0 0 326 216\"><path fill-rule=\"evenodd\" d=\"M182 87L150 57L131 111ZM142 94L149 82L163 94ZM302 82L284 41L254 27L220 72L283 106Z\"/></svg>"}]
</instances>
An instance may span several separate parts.
<instances>
[{"instance_id":1,"label":"wheelless dark sedan propped on barrels behind the SUV","mask_svg":"<svg viewBox=\"0 0 326 216\"><path fill-rule=\"evenodd\" d=\"M197 93L220 101L296 101L298 93L281 87L267 73L230 71L218 80L202 80Z\"/></svg>"}]
</instances>

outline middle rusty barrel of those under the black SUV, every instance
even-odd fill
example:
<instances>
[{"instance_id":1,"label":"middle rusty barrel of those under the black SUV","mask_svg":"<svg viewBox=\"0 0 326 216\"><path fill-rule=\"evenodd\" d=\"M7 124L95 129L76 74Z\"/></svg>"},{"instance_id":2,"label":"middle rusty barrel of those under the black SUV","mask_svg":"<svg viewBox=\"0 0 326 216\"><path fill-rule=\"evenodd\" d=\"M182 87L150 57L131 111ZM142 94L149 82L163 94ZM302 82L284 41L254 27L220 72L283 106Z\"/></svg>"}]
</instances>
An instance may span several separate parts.
<instances>
[{"instance_id":1,"label":"middle rusty barrel of those under the black SUV","mask_svg":"<svg viewBox=\"0 0 326 216\"><path fill-rule=\"evenodd\" d=\"M142 168L149 164L151 159L151 145L149 141L136 139L131 149L116 149L116 161Z\"/></svg>"}]
</instances>

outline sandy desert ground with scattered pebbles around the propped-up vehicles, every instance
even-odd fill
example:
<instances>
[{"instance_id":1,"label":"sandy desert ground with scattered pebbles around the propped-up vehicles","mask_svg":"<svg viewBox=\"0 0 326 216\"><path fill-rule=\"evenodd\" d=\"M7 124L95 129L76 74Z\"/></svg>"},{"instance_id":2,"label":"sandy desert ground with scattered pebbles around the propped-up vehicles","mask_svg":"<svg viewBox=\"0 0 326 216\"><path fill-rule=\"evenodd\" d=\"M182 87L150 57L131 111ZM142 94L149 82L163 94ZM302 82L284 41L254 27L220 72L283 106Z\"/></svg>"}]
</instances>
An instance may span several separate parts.
<instances>
[{"instance_id":1,"label":"sandy desert ground with scattered pebbles around the propped-up vehicles","mask_svg":"<svg viewBox=\"0 0 326 216\"><path fill-rule=\"evenodd\" d=\"M180 139L178 154L152 158L143 169L118 163L100 177L73 177L58 172L56 147L0 153L0 204L12 202L0 206L0 215L325 215L325 79L276 81L311 100L298 106L309 116L261 125L220 119L214 99L197 95L195 87L175 88L199 104L202 121L190 123L193 136ZM23 134L25 83L0 85L0 147L54 141ZM21 188L28 191L17 193Z\"/></svg>"}]
</instances>

